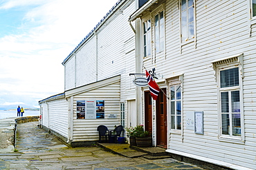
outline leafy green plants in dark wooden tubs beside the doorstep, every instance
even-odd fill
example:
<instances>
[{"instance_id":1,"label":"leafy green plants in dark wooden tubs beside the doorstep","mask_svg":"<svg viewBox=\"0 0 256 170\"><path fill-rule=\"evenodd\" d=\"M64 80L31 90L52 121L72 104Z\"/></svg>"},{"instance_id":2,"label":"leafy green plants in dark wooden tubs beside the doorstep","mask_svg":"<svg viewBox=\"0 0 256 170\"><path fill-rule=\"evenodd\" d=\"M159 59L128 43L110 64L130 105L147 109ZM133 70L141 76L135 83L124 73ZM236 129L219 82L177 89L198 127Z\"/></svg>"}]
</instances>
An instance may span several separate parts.
<instances>
[{"instance_id":1,"label":"leafy green plants in dark wooden tubs beside the doorstep","mask_svg":"<svg viewBox=\"0 0 256 170\"><path fill-rule=\"evenodd\" d=\"M131 146L137 147L151 147L152 137L149 136L149 131L144 130L143 125L137 125L136 127L126 128L127 136L130 139ZM136 141L136 144L135 144Z\"/></svg>"}]
</instances>

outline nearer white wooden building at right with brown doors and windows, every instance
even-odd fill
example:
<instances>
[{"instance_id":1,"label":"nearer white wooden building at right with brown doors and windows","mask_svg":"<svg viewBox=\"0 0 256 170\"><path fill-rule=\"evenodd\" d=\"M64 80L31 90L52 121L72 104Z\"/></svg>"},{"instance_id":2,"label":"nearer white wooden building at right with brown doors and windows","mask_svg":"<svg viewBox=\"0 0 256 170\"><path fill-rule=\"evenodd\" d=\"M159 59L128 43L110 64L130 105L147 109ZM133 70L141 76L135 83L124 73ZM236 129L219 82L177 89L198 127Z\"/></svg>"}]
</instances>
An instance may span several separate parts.
<instances>
[{"instance_id":1,"label":"nearer white wooden building at right with brown doors and windows","mask_svg":"<svg viewBox=\"0 0 256 170\"><path fill-rule=\"evenodd\" d=\"M154 145L232 169L256 169L256 1L147 1L136 23L137 69L154 68ZM148 105L151 105L150 107ZM149 121L148 121L149 120ZM152 120L152 121L150 121Z\"/></svg>"}]
</instances>

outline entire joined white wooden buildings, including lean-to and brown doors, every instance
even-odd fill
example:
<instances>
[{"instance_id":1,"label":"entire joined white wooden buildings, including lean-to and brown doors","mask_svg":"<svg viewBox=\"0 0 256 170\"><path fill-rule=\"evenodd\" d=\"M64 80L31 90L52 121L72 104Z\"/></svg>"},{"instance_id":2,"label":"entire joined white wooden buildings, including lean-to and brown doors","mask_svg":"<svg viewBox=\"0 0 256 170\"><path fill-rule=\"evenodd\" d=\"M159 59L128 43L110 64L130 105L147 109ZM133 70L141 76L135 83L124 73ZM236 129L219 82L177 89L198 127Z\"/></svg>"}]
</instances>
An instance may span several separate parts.
<instances>
[{"instance_id":1,"label":"entire joined white wooden buildings, including lean-to and brown doors","mask_svg":"<svg viewBox=\"0 0 256 170\"><path fill-rule=\"evenodd\" d=\"M80 145L98 125L143 124L168 153L256 169L255 40L255 0L118 1L62 63L64 94L39 102L42 125ZM129 76L145 68L158 100ZM90 100L104 118L79 114Z\"/></svg>"}]
</instances>

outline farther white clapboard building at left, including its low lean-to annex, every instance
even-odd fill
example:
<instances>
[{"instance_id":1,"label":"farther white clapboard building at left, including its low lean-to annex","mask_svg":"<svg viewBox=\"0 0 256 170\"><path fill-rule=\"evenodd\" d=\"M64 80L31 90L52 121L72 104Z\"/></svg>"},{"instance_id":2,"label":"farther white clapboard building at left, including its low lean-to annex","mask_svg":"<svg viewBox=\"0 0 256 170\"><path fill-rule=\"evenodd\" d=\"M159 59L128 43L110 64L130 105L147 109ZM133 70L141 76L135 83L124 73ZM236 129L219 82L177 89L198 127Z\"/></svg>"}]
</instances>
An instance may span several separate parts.
<instances>
[{"instance_id":1,"label":"farther white clapboard building at left, including its low lean-to annex","mask_svg":"<svg viewBox=\"0 0 256 170\"><path fill-rule=\"evenodd\" d=\"M64 93L39 101L42 127L72 146L97 142L99 125L127 127L126 103L136 94L129 76L135 34L127 21L134 10L135 1L118 1L64 59Z\"/></svg>"}]
</instances>

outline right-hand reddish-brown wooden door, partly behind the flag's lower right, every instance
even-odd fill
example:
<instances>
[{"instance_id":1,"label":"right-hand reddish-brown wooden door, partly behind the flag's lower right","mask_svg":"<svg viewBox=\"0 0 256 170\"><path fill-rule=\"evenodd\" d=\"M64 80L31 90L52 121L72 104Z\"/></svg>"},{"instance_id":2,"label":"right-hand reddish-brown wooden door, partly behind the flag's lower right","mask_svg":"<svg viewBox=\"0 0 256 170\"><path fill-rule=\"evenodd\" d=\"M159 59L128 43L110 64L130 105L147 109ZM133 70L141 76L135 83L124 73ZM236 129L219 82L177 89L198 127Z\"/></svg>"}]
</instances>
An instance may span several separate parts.
<instances>
[{"instance_id":1,"label":"right-hand reddish-brown wooden door, partly behind the flag's lower right","mask_svg":"<svg viewBox=\"0 0 256 170\"><path fill-rule=\"evenodd\" d=\"M166 89L162 89L166 94ZM167 148L167 100L163 92L156 100L156 145Z\"/></svg>"}]
</instances>

